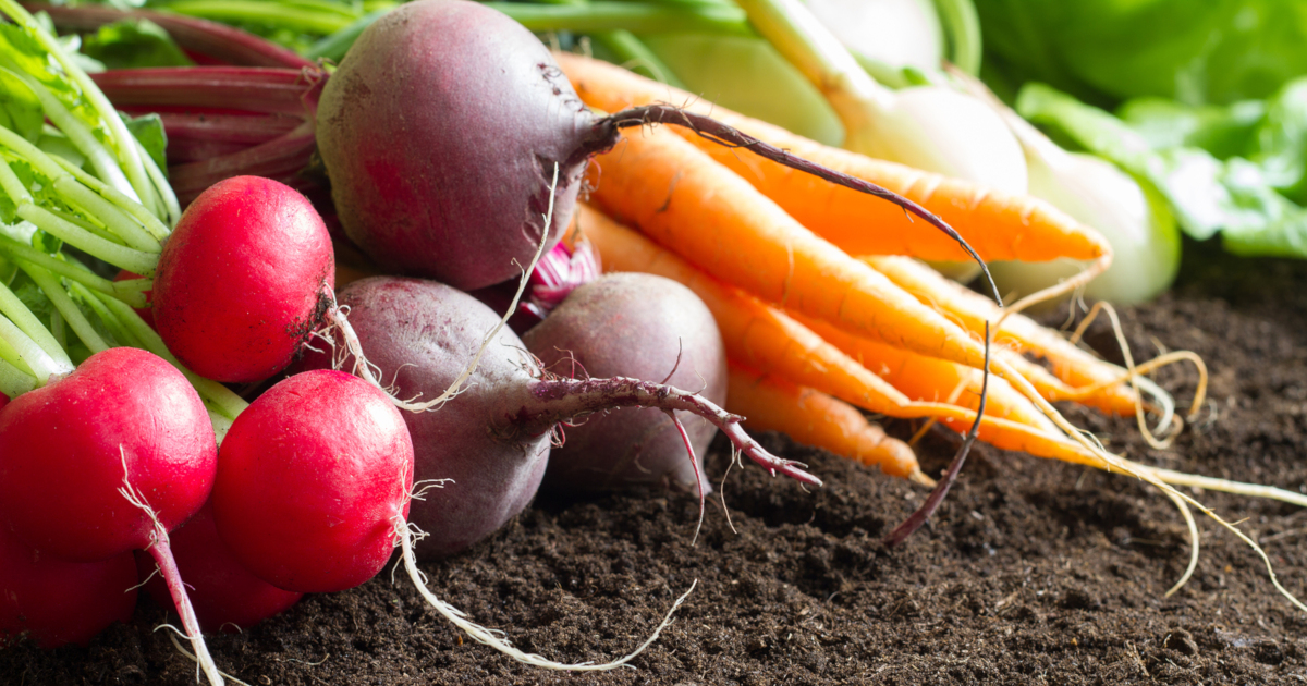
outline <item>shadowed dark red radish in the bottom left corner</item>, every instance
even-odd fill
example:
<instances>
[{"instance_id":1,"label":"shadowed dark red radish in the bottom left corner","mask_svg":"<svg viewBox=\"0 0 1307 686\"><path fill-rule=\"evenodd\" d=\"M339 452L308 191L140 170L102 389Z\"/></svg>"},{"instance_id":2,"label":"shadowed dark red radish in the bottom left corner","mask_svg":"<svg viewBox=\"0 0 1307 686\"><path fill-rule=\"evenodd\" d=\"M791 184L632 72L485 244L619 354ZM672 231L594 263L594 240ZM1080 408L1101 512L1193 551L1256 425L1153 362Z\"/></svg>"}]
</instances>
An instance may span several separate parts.
<instances>
[{"instance_id":1,"label":"shadowed dark red radish in the bottom left corner","mask_svg":"<svg viewBox=\"0 0 1307 686\"><path fill-rule=\"evenodd\" d=\"M135 587L131 553L64 562L0 527L0 648L21 636L42 648L85 645L108 625L132 617Z\"/></svg>"}]
</instances>

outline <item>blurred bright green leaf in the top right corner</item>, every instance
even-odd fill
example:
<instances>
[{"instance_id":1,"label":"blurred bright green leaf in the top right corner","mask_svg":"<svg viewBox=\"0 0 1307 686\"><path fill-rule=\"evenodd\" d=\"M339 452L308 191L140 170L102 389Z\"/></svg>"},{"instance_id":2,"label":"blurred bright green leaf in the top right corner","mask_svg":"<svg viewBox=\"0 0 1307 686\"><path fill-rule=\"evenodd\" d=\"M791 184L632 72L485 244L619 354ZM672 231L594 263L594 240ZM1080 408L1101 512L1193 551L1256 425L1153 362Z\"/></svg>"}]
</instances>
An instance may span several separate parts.
<instances>
[{"instance_id":1,"label":"blurred bright green leaf in the top right corner","mask_svg":"<svg viewBox=\"0 0 1307 686\"><path fill-rule=\"evenodd\" d=\"M1112 105L1265 98L1307 73L1300 0L975 0L988 76Z\"/></svg>"}]
</instances>

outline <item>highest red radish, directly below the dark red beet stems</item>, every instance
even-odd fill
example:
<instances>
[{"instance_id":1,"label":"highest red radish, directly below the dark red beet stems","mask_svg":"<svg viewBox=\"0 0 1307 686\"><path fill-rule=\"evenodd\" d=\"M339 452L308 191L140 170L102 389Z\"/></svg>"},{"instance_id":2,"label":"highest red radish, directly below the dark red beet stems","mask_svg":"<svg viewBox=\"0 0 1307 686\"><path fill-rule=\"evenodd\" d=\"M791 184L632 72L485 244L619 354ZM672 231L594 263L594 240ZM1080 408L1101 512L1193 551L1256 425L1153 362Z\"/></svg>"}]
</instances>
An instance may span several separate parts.
<instances>
[{"instance_id":1,"label":"highest red radish, directly below the dark red beet stems","mask_svg":"<svg viewBox=\"0 0 1307 686\"><path fill-rule=\"evenodd\" d=\"M250 383L290 363L333 311L331 237L305 196L257 176L200 195L154 278L159 336L188 368Z\"/></svg>"}]
</instances>

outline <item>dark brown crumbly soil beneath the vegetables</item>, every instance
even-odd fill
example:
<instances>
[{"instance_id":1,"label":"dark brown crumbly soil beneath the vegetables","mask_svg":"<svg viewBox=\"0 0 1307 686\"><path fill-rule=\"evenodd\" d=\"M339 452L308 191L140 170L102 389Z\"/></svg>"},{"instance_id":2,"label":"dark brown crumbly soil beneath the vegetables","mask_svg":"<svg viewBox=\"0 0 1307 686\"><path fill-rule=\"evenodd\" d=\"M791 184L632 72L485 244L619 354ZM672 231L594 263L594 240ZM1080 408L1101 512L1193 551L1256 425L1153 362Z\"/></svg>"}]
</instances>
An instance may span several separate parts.
<instances>
[{"instance_id":1,"label":"dark brown crumbly soil beneath the vegetables","mask_svg":"<svg viewBox=\"0 0 1307 686\"><path fill-rule=\"evenodd\" d=\"M1121 310L1136 359L1189 349L1212 371L1206 404L1174 447L1149 449L1133 419L1065 408L1132 459L1307 493L1307 263L1238 260L1189 244L1180 280ZM1061 315L1046 321L1057 324ZM1114 358L1106 325L1089 342ZM1197 375L1155 379L1187 402ZM911 435L908 422L889 422ZM540 498L473 550L425 566L431 588L544 656L612 660L638 645L691 583L676 622L634 669L559 674L460 638L410 584L388 575L306 597L209 648L251 685L818 685L1302 683L1307 612L1266 568L1200 517L1201 561L1172 596L1189 541L1175 507L1136 480L988 447L972 452L944 507L904 545L880 542L925 491L763 435L826 480L805 491L754 466L725 482L691 545L697 500L638 493ZM957 439L919 446L928 473ZM708 470L725 468L715 446ZM1265 546L1307 597L1307 515L1270 500L1192 495ZM733 527L733 528L732 528ZM145 595L135 619L89 647L0 651L4 683L195 683L193 665Z\"/></svg>"}]
</instances>

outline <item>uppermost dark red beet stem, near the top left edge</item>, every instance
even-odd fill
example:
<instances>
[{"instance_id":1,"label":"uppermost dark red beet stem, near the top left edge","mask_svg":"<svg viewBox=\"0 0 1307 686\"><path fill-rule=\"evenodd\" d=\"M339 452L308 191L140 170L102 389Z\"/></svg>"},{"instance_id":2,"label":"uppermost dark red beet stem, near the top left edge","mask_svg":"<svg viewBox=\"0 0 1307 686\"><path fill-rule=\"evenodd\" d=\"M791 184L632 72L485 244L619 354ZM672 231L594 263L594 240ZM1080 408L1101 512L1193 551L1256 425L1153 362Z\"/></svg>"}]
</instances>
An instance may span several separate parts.
<instances>
[{"instance_id":1,"label":"uppermost dark red beet stem, near the top left edge","mask_svg":"<svg viewBox=\"0 0 1307 686\"><path fill-rule=\"evenodd\" d=\"M44 12L55 27L73 31L94 31L106 24L124 18L146 18L163 27L183 50L239 67L285 67L290 69L314 68L299 55L257 35L223 24L182 14L166 14L148 9L123 12L99 5L63 7L43 3L22 3L29 12Z\"/></svg>"}]
</instances>

